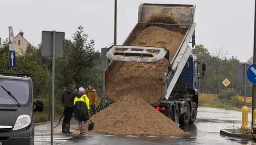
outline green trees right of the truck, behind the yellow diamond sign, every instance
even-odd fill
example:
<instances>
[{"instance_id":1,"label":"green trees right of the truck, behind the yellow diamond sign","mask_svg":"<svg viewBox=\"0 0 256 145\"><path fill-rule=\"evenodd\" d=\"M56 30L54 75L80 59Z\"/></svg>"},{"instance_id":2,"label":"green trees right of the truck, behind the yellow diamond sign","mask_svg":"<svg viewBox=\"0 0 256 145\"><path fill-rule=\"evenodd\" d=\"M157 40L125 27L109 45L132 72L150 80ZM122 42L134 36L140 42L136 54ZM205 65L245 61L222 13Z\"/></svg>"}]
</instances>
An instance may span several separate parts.
<instances>
[{"instance_id":1,"label":"green trees right of the truck, behind the yellow diamond sign","mask_svg":"<svg viewBox=\"0 0 256 145\"><path fill-rule=\"evenodd\" d=\"M239 66L240 60L237 57L226 57L226 53L219 49L211 55L203 45L196 45L192 53L197 56L198 60L207 66L206 74L200 79L200 92L219 94L226 89L222 81L227 78L231 81L228 88L238 89L236 83L236 67Z\"/></svg>"}]
</instances>

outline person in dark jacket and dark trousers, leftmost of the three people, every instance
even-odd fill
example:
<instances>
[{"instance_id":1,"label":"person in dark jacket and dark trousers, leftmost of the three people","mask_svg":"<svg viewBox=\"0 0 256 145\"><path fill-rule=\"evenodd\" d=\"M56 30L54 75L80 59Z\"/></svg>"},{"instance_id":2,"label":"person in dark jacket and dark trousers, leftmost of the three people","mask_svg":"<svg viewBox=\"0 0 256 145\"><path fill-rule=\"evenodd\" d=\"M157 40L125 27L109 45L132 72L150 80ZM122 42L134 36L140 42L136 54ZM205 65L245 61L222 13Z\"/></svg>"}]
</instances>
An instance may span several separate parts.
<instances>
[{"instance_id":1,"label":"person in dark jacket and dark trousers, leftmost of the three people","mask_svg":"<svg viewBox=\"0 0 256 145\"><path fill-rule=\"evenodd\" d=\"M70 120L73 115L73 101L77 95L77 89L75 89L75 82L71 82L69 88L64 89L61 96L61 101L64 105L64 119L62 122L62 133L70 132Z\"/></svg>"}]
</instances>

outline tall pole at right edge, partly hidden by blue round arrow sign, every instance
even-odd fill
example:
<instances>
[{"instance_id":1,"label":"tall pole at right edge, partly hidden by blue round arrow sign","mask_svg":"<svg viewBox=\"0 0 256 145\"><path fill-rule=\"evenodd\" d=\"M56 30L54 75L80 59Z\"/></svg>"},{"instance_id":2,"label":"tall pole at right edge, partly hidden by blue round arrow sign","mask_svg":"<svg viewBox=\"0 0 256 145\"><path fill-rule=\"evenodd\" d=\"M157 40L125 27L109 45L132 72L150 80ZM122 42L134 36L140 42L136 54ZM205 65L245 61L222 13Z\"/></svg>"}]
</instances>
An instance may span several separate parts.
<instances>
[{"instance_id":1,"label":"tall pole at right edge, partly hidden by blue round arrow sign","mask_svg":"<svg viewBox=\"0 0 256 145\"><path fill-rule=\"evenodd\" d=\"M254 3L254 41L253 41L253 63L256 63L256 0ZM253 111L256 108L256 86L252 85L252 129L253 129Z\"/></svg>"}]
</instances>

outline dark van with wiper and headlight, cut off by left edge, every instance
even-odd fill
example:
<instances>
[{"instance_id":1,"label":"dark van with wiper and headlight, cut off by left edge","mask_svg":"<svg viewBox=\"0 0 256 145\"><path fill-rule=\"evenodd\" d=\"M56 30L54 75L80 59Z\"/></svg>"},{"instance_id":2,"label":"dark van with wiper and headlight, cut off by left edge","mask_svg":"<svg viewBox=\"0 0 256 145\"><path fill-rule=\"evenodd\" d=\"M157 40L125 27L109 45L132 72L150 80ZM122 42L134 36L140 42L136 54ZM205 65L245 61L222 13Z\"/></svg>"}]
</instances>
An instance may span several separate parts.
<instances>
[{"instance_id":1,"label":"dark van with wiper and headlight, cut off by left edge","mask_svg":"<svg viewBox=\"0 0 256 145\"><path fill-rule=\"evenodd\" d=\"M33 100L32 79L0 75L0 144L34 144L35 111L43 101Z\"/></svg>"}]
</instances>

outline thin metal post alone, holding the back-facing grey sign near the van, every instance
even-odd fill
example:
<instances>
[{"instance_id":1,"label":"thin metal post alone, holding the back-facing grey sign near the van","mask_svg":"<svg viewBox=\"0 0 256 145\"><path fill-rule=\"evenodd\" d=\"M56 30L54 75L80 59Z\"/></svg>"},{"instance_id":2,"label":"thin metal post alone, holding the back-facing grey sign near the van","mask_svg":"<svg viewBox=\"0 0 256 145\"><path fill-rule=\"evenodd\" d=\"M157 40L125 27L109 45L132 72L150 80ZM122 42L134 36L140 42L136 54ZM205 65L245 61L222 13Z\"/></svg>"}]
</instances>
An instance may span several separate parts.
<instances>
[{"instance_id":1,"label":"thin metal post alone, holding the back-facing grey sign near the van","mask_svg":"<svg viewBox=\"0 0 256 145\"><path fill-rule=\"evenodd\" d=\"M52 98L51 98L51 145L53 145L53 121L54 121L54 84L55 84L55 31L52 39Z\"/></svg>"}]
</instances>

